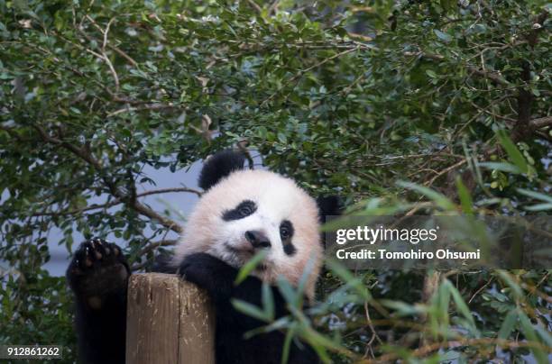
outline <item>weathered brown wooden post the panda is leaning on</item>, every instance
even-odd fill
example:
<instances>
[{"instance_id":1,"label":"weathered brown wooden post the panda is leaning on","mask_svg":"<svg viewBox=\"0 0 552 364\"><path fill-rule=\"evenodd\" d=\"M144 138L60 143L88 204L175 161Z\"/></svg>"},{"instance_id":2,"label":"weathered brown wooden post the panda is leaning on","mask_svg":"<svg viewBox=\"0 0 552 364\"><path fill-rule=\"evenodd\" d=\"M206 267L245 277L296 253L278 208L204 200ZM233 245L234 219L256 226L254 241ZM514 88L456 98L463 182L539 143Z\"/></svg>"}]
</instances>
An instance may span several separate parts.
<instances>
[{"instance_id":1,"label":"weathered brown wooden post the panda is leaning on","mask_svg":"<svg viewBox=\"0 0 552 364\"><path fill-rule=\"evenodd\" d=\"M205 292L178 276L133 274L128 284L126 362L215 363L215 312Z\"/></svg>"}]
</instances>

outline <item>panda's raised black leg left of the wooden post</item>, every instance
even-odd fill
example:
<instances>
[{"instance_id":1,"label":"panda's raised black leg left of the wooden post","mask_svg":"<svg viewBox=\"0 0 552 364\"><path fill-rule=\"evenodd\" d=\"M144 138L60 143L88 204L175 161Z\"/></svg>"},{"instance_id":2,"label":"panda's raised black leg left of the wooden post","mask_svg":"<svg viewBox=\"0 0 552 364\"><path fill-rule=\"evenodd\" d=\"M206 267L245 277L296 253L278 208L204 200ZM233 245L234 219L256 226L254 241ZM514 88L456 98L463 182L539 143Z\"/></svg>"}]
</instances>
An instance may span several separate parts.
<instances>
[{"instance_id":1,"label":"panda's raised black leg left of the wooden post","mask_svg":"<svg viewBox=\"0 0 552 364\"><path fill-rule=\"evenodd\" d=\"M84 241L67 269L76 303L78 350L84 363L124 363L126 287L130 269L121 249Z\"/></svg>"}]
</instances>

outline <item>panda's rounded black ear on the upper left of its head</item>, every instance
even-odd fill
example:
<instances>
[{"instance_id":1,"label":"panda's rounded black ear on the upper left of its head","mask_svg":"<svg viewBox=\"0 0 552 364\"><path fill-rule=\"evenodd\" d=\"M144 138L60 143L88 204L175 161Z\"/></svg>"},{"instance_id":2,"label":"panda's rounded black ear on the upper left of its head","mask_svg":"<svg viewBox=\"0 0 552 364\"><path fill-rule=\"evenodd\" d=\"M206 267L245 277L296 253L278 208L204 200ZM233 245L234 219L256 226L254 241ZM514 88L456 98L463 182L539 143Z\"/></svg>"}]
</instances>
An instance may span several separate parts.
<instances>
[{"instance_id":1,"label":"panda's rounded black ear on the upper left of its head","mask_svg":"<svg viewBox=\"0 0 552 364\"><path fill-rule=\"evenodd\" d=\"M219 151L209 157L199 173L199 187L207 190L235 170L244 169L244 153L234 150Z\"/></svg>"}]
</instances>

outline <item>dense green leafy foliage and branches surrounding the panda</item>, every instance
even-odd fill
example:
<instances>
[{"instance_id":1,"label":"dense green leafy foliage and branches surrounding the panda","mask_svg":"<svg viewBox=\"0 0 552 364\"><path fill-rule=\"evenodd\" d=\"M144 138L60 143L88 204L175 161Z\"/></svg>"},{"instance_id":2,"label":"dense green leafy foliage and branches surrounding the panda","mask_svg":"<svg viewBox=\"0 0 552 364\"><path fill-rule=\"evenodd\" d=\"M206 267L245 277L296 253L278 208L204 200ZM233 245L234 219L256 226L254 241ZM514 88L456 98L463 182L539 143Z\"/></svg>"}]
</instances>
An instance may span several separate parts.
<instances>
[{"instance_id":1,"label":"dense green leafy foliage and branches surrounding the panda","mask_svg":"<svg viewBox=\"0 0 552 364\"><path fill-rule=\"evenodd\" d=\"M1 342L74 348L48 233L147 267L180 227L144 170L225 146L364 214L551 210L549 4L315 4L0 0ZM323 359L547 359L549 272L331 267L314 322L281 287L269 326Z\"/></svg>"}]
</instances>

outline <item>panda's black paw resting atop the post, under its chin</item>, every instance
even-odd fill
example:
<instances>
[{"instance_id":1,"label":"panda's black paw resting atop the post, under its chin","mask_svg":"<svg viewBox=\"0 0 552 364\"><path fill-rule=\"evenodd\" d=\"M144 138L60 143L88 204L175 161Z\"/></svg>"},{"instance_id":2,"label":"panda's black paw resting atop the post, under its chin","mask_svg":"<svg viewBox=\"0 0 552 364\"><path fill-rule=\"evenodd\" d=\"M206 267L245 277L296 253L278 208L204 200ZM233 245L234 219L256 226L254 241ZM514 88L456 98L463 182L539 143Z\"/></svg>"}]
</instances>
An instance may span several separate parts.
<instances>
[{"instance_id":1,"label":"panda's black paw resting atop the post, under its chin","mask_svg":"<svg viewBox=\"0 0 552 364\"><path fill-rule=\"evenodd\" d=\"M236 269L207 253L195 253L182 260L179 274L187 281L207 290L214 298L230 296Z\"/></svg>"}]
</instances>

